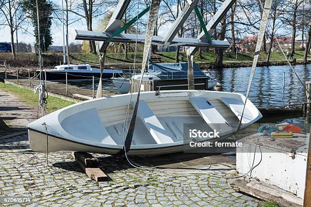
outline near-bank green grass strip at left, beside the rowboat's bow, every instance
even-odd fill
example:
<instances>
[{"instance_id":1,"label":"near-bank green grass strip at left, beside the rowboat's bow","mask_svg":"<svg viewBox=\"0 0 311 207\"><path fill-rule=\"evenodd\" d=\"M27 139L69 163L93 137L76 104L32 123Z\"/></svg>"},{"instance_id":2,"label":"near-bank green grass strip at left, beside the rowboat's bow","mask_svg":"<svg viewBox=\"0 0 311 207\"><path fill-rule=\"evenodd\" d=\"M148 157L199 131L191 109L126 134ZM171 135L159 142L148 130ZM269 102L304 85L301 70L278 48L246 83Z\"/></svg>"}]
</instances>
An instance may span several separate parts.
<instances>
[{"instance_id":1,"label":"near-bank green grass strip at left, beside the rowboat's bow","mask_svg":"<svg viewBox=\"0 0 311 207\"><path fill-rule=\"evenodd\" d=\"M20 88L11 84L6 84L0 82L0 90L8 91L16 95L20 100L23 100L27 103L27 105L32 106L34 108L38 107L38 94L35 94L34 91ZM58 109L62 109L69 105L72 105L74 102L63 100L61 98L49 96L47 99L47 112L51 113L57 111Z\"/></svg>"}]
</instances>

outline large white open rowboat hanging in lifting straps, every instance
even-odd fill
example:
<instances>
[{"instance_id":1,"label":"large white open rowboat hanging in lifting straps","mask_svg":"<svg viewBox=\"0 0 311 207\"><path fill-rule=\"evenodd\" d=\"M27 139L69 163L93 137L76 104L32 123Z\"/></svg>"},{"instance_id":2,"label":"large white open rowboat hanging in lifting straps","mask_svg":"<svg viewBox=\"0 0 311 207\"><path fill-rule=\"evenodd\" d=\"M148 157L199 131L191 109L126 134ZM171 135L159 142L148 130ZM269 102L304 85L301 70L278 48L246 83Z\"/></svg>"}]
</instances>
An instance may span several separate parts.
<instances>
[{"instance_id":1,"label":"large white open rowboat hanging in lifting straps","mask_svg":"<svg viewBox=\"0 0 311 207\"><path fill-rule=\"evenodd\" d=\"M29 145L35 152L80 151L118 154L123 148L123 123L131 94L76 103L27 125ZM133 93L132 101L137 93ZM140 93L137 121L128 154L152 155L183 151L184 124L224 124L221 137L232 135L239 123L245 96L239 93L172 90ZM130 122L133 106L130 104ZM246 101L241 129L262 117ZM46 124L47 131L44 123ZM187 132L188 133L188 132Z\"/></svg>"}]
</instances>

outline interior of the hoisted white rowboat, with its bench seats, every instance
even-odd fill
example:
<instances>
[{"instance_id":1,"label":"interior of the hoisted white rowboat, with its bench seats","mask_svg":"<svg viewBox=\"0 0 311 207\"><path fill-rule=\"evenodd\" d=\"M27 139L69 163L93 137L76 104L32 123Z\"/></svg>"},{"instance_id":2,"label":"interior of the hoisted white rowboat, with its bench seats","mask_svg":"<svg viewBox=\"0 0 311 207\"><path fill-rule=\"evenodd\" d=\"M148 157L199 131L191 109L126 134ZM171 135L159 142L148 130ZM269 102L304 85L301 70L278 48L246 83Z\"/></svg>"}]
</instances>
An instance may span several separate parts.
<instances>
[{"instance_id":1,"label":"interior of the hoisted white rowboat, with its bench seats","mask_svg":"<svg viewBox=\"0 0 311 207\"><path fill-rule=\"evenodd\" d=\"M227 101L226 103L224 101ZM161 100L139 102L137 120L132 140L132 146L172 144L183 141L184 124L198 124L204 126L205 131L217 128L219 124L222 134L235 130L239 123L242 102L233 98L211 99L205 97L190 97L183 100ZM129 116L125 122L128 106L113 107L98 110L97 108L81 111L65 118L61 125L75 137L91 142L107 145L123 145L123 135L131 119L134 102L130 105ZM248 117L247 107L243 116L243 123L253 120ZM91 120L70 127L78 117L92 117ZM85 120L88 120L87 118ZM124 126L126 123L126 127ZM96 130L89 131L88 127ZM77 130L79 129L79 130ZM85 129L85 130L84 130ZM104 137L104 138L103 138Z\"/></svg>"}]
</instances>

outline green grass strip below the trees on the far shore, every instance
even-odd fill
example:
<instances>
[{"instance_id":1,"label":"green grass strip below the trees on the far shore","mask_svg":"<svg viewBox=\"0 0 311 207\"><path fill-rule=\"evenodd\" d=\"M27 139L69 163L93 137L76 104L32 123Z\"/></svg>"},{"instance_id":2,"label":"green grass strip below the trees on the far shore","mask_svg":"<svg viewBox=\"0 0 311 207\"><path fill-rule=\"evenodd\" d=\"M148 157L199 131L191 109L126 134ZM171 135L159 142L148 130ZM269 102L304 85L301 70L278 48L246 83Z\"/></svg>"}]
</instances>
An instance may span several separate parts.
<instances>
[{"instance_id":1,"label":"green grass strip below the trees on the far shore","mask_svg":"<svg viewBox=\"0 0 311 207\"><path fill-rule=\"evenodd\" d=\"M304 51L296 51L294 58L297 60L303 59ZM151 54L152 58L158 58L161 62L175 62L176 52L157 52ZM266 61L267 52L261 52L259 55L259 61ZM134 52L128 53L128 59L124 58L123 53L107 53L105 58L105 63L107 64L132 64L134 62ZM213 63L216 59L217 54L213 51L202 52L202 57L198 57L198 53L194 55L194 61L197 63L206 62ZM0 60L7 60L7 65L11 66L37 66L38 57L33 53L17 53L17 59L13 60L11 54L9 53L0 53ZM142 62L143 53L137 52L136 62ZM179 52L179 61L183 57L184 61L188 61L185 52ZM254 52L241 53L238 52L237 59L235 59L236 54L234 52L224 52L223 62L245 62L253 61ZM311 54L308 55L308 59L311 59ZM284 55L281 52L271 52L270 55L271 61L284 61L286 60ZM56 52L46 52L43 54L43 65L50 67L52 65L58 65L59 62L63 61L63 56L61 53ZM89 64L99 64L99 57L96 54L91 53L70 53L71 63L89 63ZM1 64L1 63L0 63ZM0 65L1 66L1 65Z\"/></svg>"}]
</instances>

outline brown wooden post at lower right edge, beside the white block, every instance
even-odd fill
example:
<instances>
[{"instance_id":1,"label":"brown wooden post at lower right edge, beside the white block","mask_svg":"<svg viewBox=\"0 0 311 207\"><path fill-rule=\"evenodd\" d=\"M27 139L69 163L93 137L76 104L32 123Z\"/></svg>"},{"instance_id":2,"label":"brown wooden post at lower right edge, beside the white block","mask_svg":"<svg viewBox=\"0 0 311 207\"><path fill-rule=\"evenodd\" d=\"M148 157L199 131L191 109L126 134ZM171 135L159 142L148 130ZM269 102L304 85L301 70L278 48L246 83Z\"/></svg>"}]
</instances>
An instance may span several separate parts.
<instances>
[{"instance_id":1,"label":"brown wooden post at lower right edge, beside the white block","mask_svg":"<svg viewBox=\"0 0 311 207\"><path fill-rule=\"evenodd\" d=\"M303 206L311 206L311 129L309 134L309 146L308 146L308 157L307 166L305 172L305 189L304 189L304 199Z\"/></svg>"}]
</instances>

